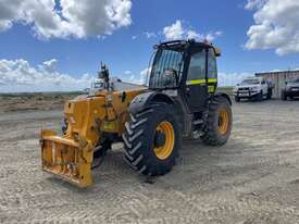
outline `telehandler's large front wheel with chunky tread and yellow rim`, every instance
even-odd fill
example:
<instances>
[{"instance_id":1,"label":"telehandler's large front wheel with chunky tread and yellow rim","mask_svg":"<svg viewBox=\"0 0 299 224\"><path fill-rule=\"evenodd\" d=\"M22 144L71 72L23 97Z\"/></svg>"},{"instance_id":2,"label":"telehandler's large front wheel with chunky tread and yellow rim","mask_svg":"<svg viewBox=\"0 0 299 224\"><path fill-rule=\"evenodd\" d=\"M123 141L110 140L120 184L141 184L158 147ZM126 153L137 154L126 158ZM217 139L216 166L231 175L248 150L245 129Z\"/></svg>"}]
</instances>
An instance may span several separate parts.
<instances>
[{"instance_id":1,"label":"telehandler's large front wheel with chunky tread and yellow rim","mask_svg":"<svg viewBox=\"0 0 299 224\"><path fill-rule=\"evenodd\" d=\"M123 134L125 161L144 175L166 174L175 164L180 148L180 133L173 107L153 104L130 114Z\"/></svg>"}]
</instances>

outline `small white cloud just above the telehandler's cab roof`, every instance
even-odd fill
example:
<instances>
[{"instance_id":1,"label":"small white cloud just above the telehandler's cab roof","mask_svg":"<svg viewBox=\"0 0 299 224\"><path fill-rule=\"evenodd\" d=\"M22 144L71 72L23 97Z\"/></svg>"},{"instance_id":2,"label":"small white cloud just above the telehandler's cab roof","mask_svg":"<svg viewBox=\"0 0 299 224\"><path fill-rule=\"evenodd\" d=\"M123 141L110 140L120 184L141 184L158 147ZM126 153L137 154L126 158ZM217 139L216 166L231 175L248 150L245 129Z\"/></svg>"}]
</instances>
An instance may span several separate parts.
<instances>
[{"instance_id":1,"label":"small white cloud just above the telehandler's cab roof","mask_svg":"<svg viewBox=\"0 0 299 224\"><path fill-rule=\"evenodd\" d=\"M222 32L209 33L207 35L200 34L192 28L186 28L183 26L183 22L177 20L174 24L163 28L163 35L166 40L176 39L197 39L213 41L217 37L222 36Z\"/></svg>"}]
</instances>

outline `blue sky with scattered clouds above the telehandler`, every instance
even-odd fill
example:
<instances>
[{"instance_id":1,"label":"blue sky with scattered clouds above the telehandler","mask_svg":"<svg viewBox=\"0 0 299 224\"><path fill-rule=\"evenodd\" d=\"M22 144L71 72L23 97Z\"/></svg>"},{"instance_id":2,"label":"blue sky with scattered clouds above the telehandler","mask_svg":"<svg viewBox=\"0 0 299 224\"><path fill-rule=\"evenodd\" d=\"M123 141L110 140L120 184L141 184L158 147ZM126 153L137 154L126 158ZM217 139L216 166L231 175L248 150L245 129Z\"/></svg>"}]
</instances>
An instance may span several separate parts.
<instances>
[{"instance_id":1,"label":"blue sky with scattered clouds above the telehandler","mask_svg":"<svg viewBox=\"0 0 299 224\"><path fill-rule=\"evenodd\" d=\"M68 3L74 0L68 0ZM97 4L99 13L95 15L92 11L82 10L85 9L84 2L91 4L95 2L92 0L84 0L82 5L73 7L79 15L86 13L84 16L67 15L66 11L53 11L70 8L67 0L42 0L42 5L32 4L30 9L37 12L42 12L47 7L47 12L39 15L23 15L22 11L26 12L28 5L12 5L15 7L12 11L8 7L1 9L0 2L0 91L42 88L55 90L60 85L63 86L62 89L67 89L61 82L68 80L68 76L80 79L86 74L83 83L71 80L71 89L76 85L82 88L90 76L96 75L100 61L109 65L114 76L136 82L140 79L140 72L148 67L152 46L169 39L165 27L169 27L170 32L175 32L171 28L175 25L179 25L183 38L188 37L188 32L191 30L199 39L210 37L213 43L222 49L223 54L219 60L219 72L224 80L222 85L232 85L235 79L254 72L299 67L298 32L285 28L277 33L277 27L291 29L289 27L294 27L294 23L295 27L299 27L298 22L294 22L294 17L290 16L279 24L281 22L272 15L277 12L277 16L282 16L282 11L298 9L296 0L290 0L290 5L281 3L282 7L278 9L277 0L125 1L125 5L120 3L121 0L112 1L120 8L119 11L115 10L115 14L119 12L117 18L113 20L101 11L109 4L105 0L99 1L102 5ZM9 0L2 2L11 4ZM54 15L53 18L46 16L48 11L50 16ZM91 18L88 17L89 14ZM71 25L74 26L63 24L64 17L61 15L70 16ZM296 16L298 17L298 14ZM48 18L51 23L54 21L53 23L62 24L62 28L55 26L53 29L48 25L50 22L45 22ZM105 21L112 21L112 25L101 25L105 24ZM1 22L4 24L2 28ZM82 29L77 28L80 27L78 24L83 23L85 25ZM275 37L276 33L279 37ZM177 36L179 37L179 34L174 34L174 37ZM292 45L287 46L287 42ZM25 66L29 71L25 70L28 77L17 79L16 76L22 74L15 66ZM48 80L49 75L49 82L60 75L67 78L59 82L55 79L54 84L46 85L35 83L30 75L37 78L46 77L45 80ZM26 82L26 78L29 80Z\"/></svg>"}]
</instances>

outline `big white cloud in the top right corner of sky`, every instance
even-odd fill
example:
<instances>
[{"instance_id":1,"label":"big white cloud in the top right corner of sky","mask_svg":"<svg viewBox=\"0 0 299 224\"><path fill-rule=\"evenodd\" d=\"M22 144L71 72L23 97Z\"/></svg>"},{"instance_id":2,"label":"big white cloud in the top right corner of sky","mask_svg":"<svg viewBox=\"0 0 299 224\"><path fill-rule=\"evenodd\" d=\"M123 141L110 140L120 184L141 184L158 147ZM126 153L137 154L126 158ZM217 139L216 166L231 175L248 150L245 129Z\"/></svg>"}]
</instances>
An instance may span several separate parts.
<instances>
[{"instance_id":1,"label":"big white cloud in the top right corner of sky","mask_svg":"<svg viewBox=\"0 0 299 224\"><path fill-rule=\"evenodd\" d=\"M299 52L298 0L249 0L246 9L256 10L247 49L275 49L279 55Z\"/></svg>"}]
</instances>

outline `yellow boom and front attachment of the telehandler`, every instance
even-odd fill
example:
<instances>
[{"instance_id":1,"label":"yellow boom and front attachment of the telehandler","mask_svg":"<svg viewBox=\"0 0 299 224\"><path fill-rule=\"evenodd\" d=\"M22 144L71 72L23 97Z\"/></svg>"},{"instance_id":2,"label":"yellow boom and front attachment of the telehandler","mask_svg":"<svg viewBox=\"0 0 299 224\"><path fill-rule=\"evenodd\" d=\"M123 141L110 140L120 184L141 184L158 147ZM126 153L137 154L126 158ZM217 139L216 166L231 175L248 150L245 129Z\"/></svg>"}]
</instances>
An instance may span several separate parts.
<instances>
[{"instance_id":1,"label":"yellow boom and front attachment of the telehandler","mask_svg":"<svg viewBox=\"0 0 299 224\"><path fill-rule=\"evenodd\" d=\"M122 135L130 101L146 88L128 91L99 91L95 96L67 101L64 115L67 129L63 137L41 130L42 170L79 187L92 184L94 149L102 133Z\"/></svg>"}]
</instances>

